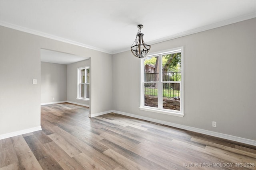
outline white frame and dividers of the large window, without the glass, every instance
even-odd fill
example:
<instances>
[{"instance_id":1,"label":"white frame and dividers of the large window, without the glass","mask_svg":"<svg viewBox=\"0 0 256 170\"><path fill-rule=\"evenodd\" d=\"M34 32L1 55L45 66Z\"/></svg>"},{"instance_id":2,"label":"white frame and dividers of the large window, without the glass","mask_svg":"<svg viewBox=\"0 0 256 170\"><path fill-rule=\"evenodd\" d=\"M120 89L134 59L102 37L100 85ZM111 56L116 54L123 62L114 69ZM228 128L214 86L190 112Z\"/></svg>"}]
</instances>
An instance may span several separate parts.
<instances>
[{"instance_id":1,"label":"white frame and dividers of the large window, without the glass","mask_svg":"<svg viewBox=\"0 0 256 170\"><path fill-rule=\"evenodd\" d=\"M151 111L155 113L162 113L167 115L174 115L178 117L184 117L184 47L177 47L173 49L168 49L164 51L158 51L156 53L150 53L147 55L147 57L140 59L140 109L144 111ZM177 110L168 110L162 108L162 95L158 95L158 107L150 107L150 106L144 106L144 59L150 58L150 57L160 57L159 64L162 66L162 56L167 55L170 53L178 53L181 52L181 82L180 82L180 111ZM147 83L155 83L155 82L147 82ZM158 84L158 94L162 94L162 87L161 85L163 83L162 81L162 67L159 69L159 81ZM167 82L167 83L176 83L176 82Z\"/></svg>"}]
</instances>

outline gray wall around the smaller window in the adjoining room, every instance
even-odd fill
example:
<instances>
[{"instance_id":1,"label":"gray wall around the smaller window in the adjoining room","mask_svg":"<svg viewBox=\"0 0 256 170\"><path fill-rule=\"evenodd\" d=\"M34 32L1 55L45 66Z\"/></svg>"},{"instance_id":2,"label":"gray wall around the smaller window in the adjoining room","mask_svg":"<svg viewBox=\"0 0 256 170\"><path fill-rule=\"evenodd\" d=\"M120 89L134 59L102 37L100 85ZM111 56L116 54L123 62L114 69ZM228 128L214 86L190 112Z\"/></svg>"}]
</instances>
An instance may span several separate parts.
<instances>
[{"instance_id":1,"label":"gray wall around the smaller window in the adjoining room","mask_svg":"<svg viewBox=\"0 0 256 170\"><path fill-rule=\"evenodd\" d=\"M78 100L77 98L77 68L90 66L91 59L72 63L67 65L67 100L89 106L90 102L86 100Z\"/></svg>"}]
</instances>

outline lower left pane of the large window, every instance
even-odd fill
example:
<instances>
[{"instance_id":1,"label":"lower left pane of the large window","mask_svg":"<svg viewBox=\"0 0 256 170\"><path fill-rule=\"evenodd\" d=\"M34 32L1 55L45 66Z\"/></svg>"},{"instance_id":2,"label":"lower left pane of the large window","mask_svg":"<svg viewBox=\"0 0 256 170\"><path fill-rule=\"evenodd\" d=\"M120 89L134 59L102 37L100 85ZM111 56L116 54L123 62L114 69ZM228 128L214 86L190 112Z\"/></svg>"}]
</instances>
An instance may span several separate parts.
<instances>
[{"instance_id":1,"label":"lower left pane of the large window","mask_svg":"<svg viewBox=\"0 0 256 170\"><path fill-rule=\"evenodd\" d=\"M144 106L158 107L157 83L144 84Z\"/></svg>"}]
</instances>

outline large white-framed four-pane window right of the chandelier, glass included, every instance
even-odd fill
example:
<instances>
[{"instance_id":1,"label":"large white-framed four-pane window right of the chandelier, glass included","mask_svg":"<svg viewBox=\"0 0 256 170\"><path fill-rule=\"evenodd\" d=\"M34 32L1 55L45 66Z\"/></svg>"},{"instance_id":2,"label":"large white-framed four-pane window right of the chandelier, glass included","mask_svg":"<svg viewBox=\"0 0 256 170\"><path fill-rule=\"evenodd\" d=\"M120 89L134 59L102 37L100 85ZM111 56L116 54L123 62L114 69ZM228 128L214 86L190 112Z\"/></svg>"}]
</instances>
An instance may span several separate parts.
<instances>
[{"instance_id":1,"label":"large white-framed four-pane window right of the chandelier, glass included","mask_svg":"<svg viewBox=\"0 0 256 170\"><path fill-rule=\"evenodd\" d=\"M183 117L183 77L183 47L143 58L140 109Z\"/></svg>"}]
</instances>

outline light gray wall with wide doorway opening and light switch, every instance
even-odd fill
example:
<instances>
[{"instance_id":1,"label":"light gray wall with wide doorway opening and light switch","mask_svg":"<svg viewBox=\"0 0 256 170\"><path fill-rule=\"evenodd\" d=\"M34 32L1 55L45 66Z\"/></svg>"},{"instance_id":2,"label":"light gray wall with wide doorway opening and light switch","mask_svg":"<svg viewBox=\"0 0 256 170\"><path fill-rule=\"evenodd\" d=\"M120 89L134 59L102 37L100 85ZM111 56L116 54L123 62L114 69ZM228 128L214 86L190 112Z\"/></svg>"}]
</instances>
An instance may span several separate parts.
<instances>
[{"instance_id":1,"label":"light gray wall with wide doorway opening and light switch","mask_svg":"<svg viewBox=\"0 0 256 170\"><path fill-rule=\"evenodd\" d=\"M112 55L3 26L0 37L0 135L40 126L41 48L91 57L90 114L112 109Z\"/></svg>"}]
</instances>

